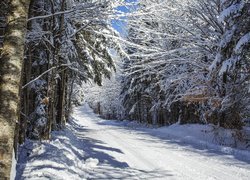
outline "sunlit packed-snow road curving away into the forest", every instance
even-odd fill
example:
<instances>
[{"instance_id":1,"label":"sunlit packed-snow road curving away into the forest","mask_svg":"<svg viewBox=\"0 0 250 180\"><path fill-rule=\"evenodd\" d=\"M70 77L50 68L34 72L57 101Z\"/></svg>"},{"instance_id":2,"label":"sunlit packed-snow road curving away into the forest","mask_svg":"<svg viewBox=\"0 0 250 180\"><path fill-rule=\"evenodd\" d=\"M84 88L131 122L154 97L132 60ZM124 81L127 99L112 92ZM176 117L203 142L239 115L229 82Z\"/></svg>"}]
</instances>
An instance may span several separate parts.
<instances>
[{"instance_id":1,"label":"sunlit packed-snow road curving away into the forest","mask_svg":"<svg viewBox=\"0 0 250 180\"><path fill-rule=\"evenodd\" d=\"M96 151L107 153L116 161L126 164L128 171L131 168L141 172L131 172L130 178L250 179L250 164L230 155L197 149L171 138L160 139L147 130L133 130L109 123L96 118L87 106L76 111L75 118L87 130L84 136L94 138L107 147L96 148ZM116 164L110 165L114 167Z\"/></svg>"}]
</instances>

